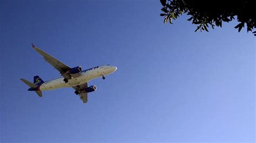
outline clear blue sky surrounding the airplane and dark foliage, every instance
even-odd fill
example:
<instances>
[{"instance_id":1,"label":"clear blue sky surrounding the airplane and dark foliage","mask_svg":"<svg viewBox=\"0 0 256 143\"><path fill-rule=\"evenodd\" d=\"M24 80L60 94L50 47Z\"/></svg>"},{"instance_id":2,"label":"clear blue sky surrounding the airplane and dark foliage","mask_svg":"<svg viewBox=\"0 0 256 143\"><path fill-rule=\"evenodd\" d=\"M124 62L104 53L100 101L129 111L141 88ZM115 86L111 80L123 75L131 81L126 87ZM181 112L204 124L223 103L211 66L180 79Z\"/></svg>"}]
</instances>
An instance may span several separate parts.
<instances>
[{"instance_id":1,"label":"clear blue sky surrounding the airplane and dark foliage","mask_svg":"<svg viewBox=\"0 0 256 143\"><path fill-rule=\"evenodd\" d=\"M255 141L255 37L237 22L194 32L163 24L159 1L1 1L1 142ZM39 98L19 78L59 77L31 42L116 73Z\"/></svg>"}]
</instances>

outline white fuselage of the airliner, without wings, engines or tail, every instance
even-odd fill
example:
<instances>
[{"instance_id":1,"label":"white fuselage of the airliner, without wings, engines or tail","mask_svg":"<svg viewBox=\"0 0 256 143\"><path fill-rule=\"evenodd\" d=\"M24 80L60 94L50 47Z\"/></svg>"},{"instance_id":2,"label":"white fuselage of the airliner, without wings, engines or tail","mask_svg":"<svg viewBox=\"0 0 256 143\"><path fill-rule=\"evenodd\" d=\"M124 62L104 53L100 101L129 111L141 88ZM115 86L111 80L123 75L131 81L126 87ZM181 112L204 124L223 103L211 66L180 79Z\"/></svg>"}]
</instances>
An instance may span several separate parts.
<instances>
[{"instance_id":1,"label":"white fuselage of the airliner, without wings, engines or tail","mask_svg":"<svg viewBox=\"0 0 256 143\"><path fill-rule=\"evenodd\" d=\"M117 70L115 66L97 66L90 69L86 69L80 72L80 76L73 77L69 79L68 83L65 83L64 77L59 77L54 80L46 81L40 85L39 89L43 90L53 90L64 87L74 87L86 82L91 81L93 78L102 77L103 75L109 75Z\"/></svg>"}]
</instances>

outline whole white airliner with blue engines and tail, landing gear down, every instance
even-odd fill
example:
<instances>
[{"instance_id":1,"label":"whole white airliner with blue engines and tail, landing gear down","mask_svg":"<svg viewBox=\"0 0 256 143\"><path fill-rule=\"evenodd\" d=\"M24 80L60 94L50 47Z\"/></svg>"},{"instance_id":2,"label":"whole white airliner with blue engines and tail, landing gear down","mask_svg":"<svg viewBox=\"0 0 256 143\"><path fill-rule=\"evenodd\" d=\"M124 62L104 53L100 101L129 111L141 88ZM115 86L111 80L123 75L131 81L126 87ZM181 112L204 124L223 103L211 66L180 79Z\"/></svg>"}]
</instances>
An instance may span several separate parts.
<instances>
[{"instance_id":1,"label":"whole white airliner with blue engines and tail, landing gear down","mask_svg":"<svg viewBox=\"0 0 256 143\"><path fill-rule=\"evenodd\" d=\"M43 59L50 63L50 65L53 66L54 69L57 69L62 75L62 77L45 82L39 76L34 76L33 83L21 78L21 81L29 85L30 88L28 91L35 91L39 97L43 96L42 91L44 90L72 87L75 89L75 94L80 96L83 103L87 103L88 93L97 89L96 85L88 86L88 82L98 77L102 77L103 80L105 80L106 75L112 74L117 70L116 66L111 65L96 66L85 70L82 70L81 66L70 68L33 44L32 48L41 54Z\"/></svg>"}]
</instances>

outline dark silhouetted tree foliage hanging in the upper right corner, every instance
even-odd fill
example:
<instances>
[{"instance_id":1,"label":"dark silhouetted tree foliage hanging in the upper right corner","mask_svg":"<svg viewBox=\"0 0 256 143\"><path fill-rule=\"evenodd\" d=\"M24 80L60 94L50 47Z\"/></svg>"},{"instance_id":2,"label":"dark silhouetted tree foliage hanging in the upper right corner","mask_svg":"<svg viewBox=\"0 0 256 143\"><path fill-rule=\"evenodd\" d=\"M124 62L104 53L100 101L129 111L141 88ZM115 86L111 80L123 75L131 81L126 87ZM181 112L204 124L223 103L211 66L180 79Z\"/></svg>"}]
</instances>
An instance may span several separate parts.
<instances>
[{"instance_id":1,"label":"dark silhouetted tree foliage hanging in the upper right corner","mask_svg":"<svg viewBox=\"0 0 256 143\"><path fill-rule=\"evenodd\" d=\"M196 31L207 31L211 26L222 26L223 22L231 22L237 20L239 24L234 28L238 28L238 32L242 27L247 26L247 32L252 31L256 27L255 22L255 4L253 1L189 1L189 0L160 0L164 13L160 16L164 17L164 23L177 19L186 13L191 17L188 21L198 25ZM256 36L256 31L252 32Z\"/></svg>"}]
</instances>

